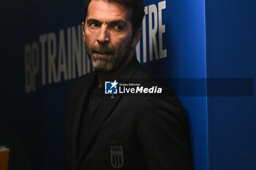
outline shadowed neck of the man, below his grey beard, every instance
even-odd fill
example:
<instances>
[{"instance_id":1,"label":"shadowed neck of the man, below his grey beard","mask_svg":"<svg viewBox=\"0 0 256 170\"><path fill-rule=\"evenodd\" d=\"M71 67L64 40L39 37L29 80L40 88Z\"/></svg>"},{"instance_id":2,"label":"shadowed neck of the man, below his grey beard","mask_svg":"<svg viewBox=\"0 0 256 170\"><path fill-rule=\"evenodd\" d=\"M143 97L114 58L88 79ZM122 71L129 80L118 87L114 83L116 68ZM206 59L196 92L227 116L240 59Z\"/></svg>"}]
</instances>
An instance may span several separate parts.
<instances>
[{"instance_id":1,"label":"shadowed neck of the man, below his grey beard","mask_svg":"<svg viewBox=\"0 0 256 170\"><path fill-rule=\"evenodd\" d=\"M127 66L129 61L131 61L133 55L134 55L134 52L130 53L129 57L127 58L127 61L125 61L124 64L120 68L116 69L113 72L97 72L97 78L98 78L98 81L99 81L99 88L104 87L105 81L114 81L114 80L116 80L116 77L118 77L118 75L121 73L121 71L124 69L124 67Z\"/></svg>"}]
</instances>

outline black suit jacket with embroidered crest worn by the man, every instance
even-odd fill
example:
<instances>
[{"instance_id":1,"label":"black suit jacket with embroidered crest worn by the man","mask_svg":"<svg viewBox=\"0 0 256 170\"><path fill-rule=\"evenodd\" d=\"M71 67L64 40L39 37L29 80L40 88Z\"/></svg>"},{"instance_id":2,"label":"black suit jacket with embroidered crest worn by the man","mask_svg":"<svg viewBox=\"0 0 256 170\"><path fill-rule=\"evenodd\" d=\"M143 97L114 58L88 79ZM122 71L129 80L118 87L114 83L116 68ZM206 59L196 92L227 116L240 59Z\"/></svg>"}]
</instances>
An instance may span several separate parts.
<instances>
[{"instance_id":1,"label":"black suit jacket with embroidered crest worn by the man","mask_svg":"<svg viewBox=\"0 0 256 170\"><path fill-rule=\"evenodd\" d=\"M176 95L106 95L95 114L83 150L78 131L86 96L97 79L91 72L72 83L67 96L65 170L187 170L192 169L187 122ZM117 82L159 85L135 58ZM160 86L160 85L159 85ZM159 87L158 86L158 87ZM78 156L77 152L82 152Z\"/></svg>"}]
</instances>

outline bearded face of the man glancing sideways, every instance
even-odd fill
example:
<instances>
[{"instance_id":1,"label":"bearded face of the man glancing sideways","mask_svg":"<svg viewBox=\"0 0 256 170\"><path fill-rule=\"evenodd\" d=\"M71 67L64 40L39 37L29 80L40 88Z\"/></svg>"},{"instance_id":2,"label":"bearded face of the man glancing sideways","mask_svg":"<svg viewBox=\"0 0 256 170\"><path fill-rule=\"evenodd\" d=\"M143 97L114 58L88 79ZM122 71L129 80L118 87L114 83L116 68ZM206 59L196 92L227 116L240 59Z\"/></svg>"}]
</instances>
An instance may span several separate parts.
<instances>
[{"instance_id":1,"label":"bearded face of the man glancing sideways","mask_svg":"<svg viewBox=\"0 0 256 170\"><path fill-rule=\"evenodd\" d=\"M83 40L94 69L111 72L120 68L129 57L132 40L130 12L116 2L92 0L83 28Z\"/></svg>"}]
</instances>

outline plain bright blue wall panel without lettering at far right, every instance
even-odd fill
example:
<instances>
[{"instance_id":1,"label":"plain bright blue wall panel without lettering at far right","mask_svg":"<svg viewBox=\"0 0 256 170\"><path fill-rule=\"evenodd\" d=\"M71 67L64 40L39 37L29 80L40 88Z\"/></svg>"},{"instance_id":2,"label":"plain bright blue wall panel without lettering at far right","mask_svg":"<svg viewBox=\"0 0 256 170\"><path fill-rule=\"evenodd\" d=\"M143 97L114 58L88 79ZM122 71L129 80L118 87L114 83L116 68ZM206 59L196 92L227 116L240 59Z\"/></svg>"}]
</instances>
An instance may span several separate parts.
<instances>
[{"instance_id":1,"label":"plain bright blue wall panel without lettering at far right","mask_svg":"<svg viewBox=\"0 0 256 170\"><path fill-rule=\"evenodd\" d=\"M256 77L255 1L206 1L207 77ZM233 93L241 85L233 84ZM256 169L255 84L248 95L208 97L209 169Z\"/></svg>"}]
</instances>

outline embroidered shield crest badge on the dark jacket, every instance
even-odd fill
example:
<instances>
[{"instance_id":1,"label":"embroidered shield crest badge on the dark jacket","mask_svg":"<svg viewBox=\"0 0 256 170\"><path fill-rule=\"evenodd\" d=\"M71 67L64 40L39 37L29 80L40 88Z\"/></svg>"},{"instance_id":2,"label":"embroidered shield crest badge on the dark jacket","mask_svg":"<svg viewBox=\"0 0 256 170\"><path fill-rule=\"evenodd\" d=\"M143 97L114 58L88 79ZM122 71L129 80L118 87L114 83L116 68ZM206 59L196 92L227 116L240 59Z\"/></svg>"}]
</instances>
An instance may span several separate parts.
<instances>
[{"instance_id":1,"label":"embroidered shield crest badge on the dark jacket","mask_svg":"<svg viewBox=\"0 0 256 170\"><path fill-rule=\"evenodd\" d=\"M110 147L111 165L114 169L121 169L124 166L123 146L112 145Z\"/></svg>"}]
</instances>

